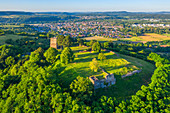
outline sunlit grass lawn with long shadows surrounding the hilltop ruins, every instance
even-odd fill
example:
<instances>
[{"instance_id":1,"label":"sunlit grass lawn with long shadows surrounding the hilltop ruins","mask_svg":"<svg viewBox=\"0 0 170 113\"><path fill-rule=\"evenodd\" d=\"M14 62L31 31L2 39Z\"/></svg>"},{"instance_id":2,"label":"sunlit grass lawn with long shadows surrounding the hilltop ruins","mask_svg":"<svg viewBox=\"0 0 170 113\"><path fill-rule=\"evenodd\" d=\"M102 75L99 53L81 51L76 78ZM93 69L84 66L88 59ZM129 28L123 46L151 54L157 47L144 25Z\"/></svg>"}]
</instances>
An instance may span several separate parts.
<instances>
[{"instance_id":1,"label":"sunlit grass lawn with long shadows surrounding the hilltop ruins","mask_svg":"<svg viewBox=\"0 0 170 113\"><path fill-rule=\"evenodd\" d=\"M75 52L75 60L66 66L61 73L60 79L64 87L69 87L69 84L77 77L97 76L104 77L104 73L92 72L89 68L89 63L93 58L97 58L98 53L81 52L88 47L72 47ZM142 85L150 82L151 75L155 69L154 65L126 55L103 51L107 57L104 61L99 61L100 67L105 69L108 73L113 73L116 78L116 84L105 89L96 90L96 96L106 95L109 97L117 97L119 99L128 98L135 94ZM141 69L142 72L131 77L122 79L121 75L126 74L132 70Z\"/></svg>"}]
</instances>

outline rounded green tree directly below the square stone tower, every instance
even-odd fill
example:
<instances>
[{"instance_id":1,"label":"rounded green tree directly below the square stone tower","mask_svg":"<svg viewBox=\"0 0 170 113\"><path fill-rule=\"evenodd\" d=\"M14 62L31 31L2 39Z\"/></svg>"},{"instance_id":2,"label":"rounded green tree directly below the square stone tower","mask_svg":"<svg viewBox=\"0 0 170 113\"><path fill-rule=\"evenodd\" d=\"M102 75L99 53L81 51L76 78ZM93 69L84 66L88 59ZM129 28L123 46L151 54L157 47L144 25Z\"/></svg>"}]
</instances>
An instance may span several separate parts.
<instances>
[{"instance_id":1,"label":"rounded green tree directly below the square stone tower","mask_svg":"<svg viewBox=\"0 0 170 113\"><path fill-rule=\"evenodd\" d=\"M57 53L58 51L55 48L49 48L45 53L44 56L46 57L46 60L50 63L54 63L57 60Z\"/></svg>"}]
</instances>

